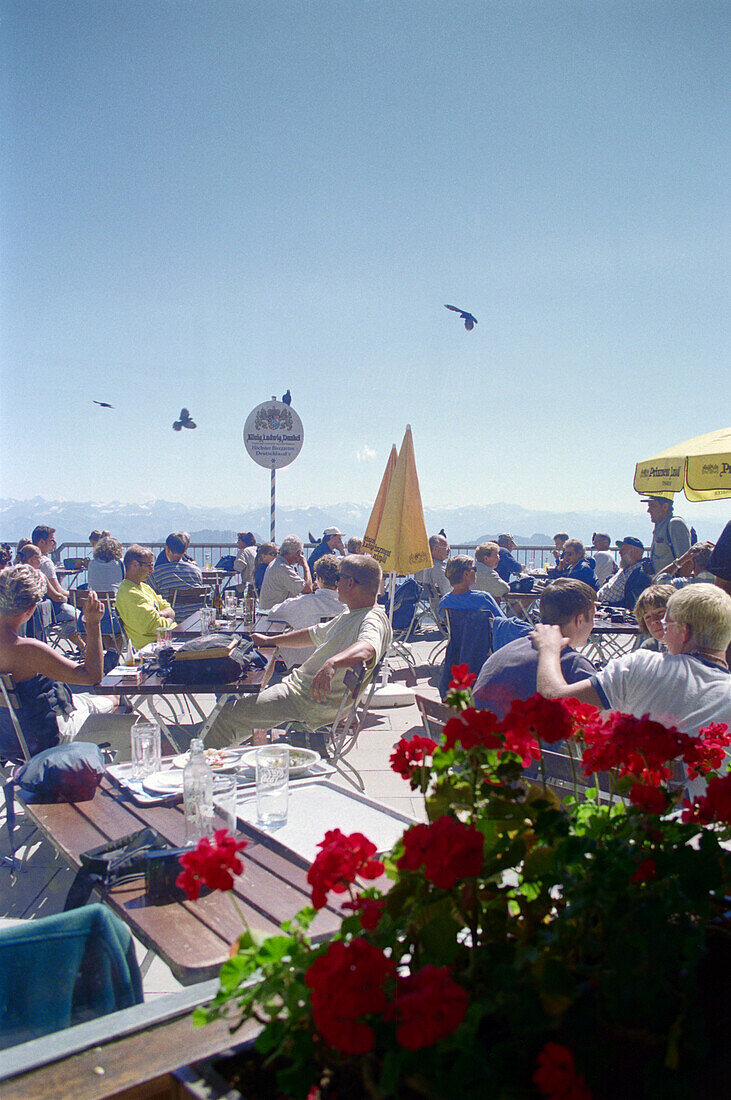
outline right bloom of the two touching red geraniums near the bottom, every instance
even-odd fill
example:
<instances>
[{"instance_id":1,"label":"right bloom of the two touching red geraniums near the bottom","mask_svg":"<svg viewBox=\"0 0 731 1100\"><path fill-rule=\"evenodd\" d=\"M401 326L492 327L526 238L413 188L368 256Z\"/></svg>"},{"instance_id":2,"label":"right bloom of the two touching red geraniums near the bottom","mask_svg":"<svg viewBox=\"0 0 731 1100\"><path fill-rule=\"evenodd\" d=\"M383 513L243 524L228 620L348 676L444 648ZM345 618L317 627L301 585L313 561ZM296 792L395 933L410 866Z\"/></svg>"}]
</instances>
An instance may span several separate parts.
<instances>
[{"instance_id":1,"label":"right bloom of the two touching red geraniums near the bottom","mask_svg":"<svg viewBox=\"0 0 731 1100\"><path fill-rule=\"evenodd\" d=\"M399 978L391 1014L398 1020L396 1038L407 1050L421 1050L451 1035L465 1018L469 997L452 978L448 967L425 966Z\"/></svg>"}]
</instances>

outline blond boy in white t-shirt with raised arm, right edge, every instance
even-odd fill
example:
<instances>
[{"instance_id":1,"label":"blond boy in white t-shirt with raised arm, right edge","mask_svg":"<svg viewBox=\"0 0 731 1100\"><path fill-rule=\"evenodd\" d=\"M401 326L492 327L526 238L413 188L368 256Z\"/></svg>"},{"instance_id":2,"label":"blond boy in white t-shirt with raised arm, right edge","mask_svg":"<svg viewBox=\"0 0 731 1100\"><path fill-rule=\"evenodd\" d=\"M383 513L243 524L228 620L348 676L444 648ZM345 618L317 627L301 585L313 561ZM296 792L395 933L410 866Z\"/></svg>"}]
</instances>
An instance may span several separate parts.
<instances>
[{"instance_id":1,"label":"blond boy in white t-shirt with raised arm, right edge","mask_svg":"<svg viewBox=\"0 0 731 1100\"><path fill-rule=\"evenodd\" d=\"M711 722L731 726L731 597L715 585L689 584L667 601L663 625L666 653L638 649L573 684L561 668L566 638L557 626L536 626L538 690L546 698L574 696L636 718L649 715L691 736Z\"/></svg>"}]
</instances>

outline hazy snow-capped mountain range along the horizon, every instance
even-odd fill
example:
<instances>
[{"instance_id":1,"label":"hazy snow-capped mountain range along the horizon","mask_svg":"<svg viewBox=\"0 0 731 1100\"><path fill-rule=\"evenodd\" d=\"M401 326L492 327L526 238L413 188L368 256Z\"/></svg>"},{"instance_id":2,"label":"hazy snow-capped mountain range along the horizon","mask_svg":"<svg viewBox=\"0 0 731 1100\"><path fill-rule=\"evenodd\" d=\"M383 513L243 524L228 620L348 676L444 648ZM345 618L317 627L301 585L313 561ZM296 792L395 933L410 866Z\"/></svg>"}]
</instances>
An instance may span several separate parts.
<instances>
[{"instance_id":1,"label":"hazy snow-capped mountain range along the horizon","mask_svg":"<svg viewBox=\"0 0 731 1100\"><path fill-rule=\"evenodd\" d=\"M326 507L308 506L277 508L277 536L290 532L306 541L309 531L320 535L325 527L336 525L346 535L363 535L370 504L333 504ZM689 516L685 514L686 520ZM500 531L510 531L523 546L550 543L555 531L565 530L572 536L590 542L591 534L607 531L612 541L635 535L649 541L652 527L644 505L638 502L636 512L541 512L521 508L517 504L500 502L485 505L454 505L424 508L429 534L444 528L454 543L481 542L495 538ZM46 501L36 496L30 501L0 498L0 540L15 542L30 536L36 524L56 528L62 542L88 540L95 527L107 529L122 542L162 542L170 531L185 530L193 542L235 542L236 531L251 530L257 540L269 537L269 513L266 507L207 508L169 501L148 501L144 504L111 501L99 502ZM720 534L708 521L696 524L698 537L716 539Z\"/></svg>"}]
</instances>

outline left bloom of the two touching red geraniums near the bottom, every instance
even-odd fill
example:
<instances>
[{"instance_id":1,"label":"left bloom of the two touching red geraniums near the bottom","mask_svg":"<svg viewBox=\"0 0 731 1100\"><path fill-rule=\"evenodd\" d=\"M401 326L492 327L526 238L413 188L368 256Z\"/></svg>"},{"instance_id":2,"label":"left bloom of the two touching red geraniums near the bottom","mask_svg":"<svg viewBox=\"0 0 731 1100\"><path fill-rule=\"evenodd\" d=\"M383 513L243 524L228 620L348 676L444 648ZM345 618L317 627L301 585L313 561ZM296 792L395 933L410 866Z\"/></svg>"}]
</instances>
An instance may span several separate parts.
<instances>
[{"instance_id":1,"label":"left bloom of the two touching red geraniums near the bottom","mask_svg":"<svg viewBox=\"0 0 731 1100\"><path fill-rule=\"evenodd\" d=\"M396 965L365 939L335 941L304 975L312 1015L322 1037L345 1054L372 1050L376 1036L361 1019L384 1012L386 980Z\"/></svg>"}]
</instances>

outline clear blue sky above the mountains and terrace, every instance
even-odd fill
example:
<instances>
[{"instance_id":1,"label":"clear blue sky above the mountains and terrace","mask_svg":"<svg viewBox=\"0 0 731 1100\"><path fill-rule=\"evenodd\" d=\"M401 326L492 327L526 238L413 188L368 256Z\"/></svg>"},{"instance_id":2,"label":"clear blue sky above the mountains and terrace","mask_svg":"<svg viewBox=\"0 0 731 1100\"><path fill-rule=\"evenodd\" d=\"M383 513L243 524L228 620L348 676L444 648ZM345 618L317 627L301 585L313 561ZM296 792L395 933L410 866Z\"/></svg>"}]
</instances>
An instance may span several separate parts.
<instances>
[{"instance_id":1,"label":"clear blue sky above the mountains and terrace","mask_svg":"<svg viewBox=\"0 0 731 1100\"><path fill-rule=\"evenodd\" d=\"M643 514L728 424L728 4L0 14L2 495L264 502L289 387L284 503L372 499L410 422L430 505Z\"/></svg>"}]
</instances>

